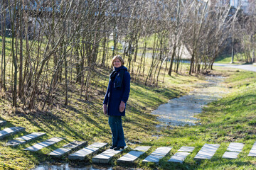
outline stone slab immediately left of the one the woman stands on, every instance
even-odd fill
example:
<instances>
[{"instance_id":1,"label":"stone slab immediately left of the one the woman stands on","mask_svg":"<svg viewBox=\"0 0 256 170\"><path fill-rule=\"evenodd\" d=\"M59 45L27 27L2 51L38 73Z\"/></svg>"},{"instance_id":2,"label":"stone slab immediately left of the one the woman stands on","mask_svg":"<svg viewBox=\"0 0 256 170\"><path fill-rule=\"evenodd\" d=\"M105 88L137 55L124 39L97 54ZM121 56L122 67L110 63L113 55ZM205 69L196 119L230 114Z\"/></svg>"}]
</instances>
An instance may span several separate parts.
<instances>
[{"instance_id":1,"label":"stone slab immediately left of the one the woman stands on","mask_svg":"<svg viewBox=\"0 0 256 170\"><path fill-rule=\"evenodd\" d=\"M99 152L100 148L106 147L107 143L102 143L102 142L96 142L88 147L85 147L83 149L80 149L79 151L70 154L68 156L68 159L75 160L75 159L80 159L83 160L85 157L87 157L89 154L95 154Z\"/></svg>"}]
</instances>

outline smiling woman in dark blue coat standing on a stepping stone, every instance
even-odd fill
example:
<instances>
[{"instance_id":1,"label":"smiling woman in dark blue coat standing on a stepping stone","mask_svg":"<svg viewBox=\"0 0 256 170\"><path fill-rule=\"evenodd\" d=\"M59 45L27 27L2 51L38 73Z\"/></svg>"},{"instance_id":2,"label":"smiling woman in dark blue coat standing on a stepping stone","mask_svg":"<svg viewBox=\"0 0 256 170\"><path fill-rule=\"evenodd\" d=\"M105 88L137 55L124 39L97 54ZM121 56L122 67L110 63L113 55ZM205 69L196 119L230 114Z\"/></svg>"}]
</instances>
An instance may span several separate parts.
<instances>
[{"instance_id":1,"label":"smiling woman in dark blue coat standing on a stepping stone","mask_svg":"<svg viewBox=\"0 0 256 170\"><path fill-rule=\"evenodd\" d=\"M119 150L126 146L124 142L124 130L122 128L122 116L125 115L125 107L129 98L130 74L124 67L121 56L112 59L114 71L110 74L107 93L103 101L103 112L109 115L109 125L112 131L112 146L110 149Z\"/></svg>"}]
</instances>

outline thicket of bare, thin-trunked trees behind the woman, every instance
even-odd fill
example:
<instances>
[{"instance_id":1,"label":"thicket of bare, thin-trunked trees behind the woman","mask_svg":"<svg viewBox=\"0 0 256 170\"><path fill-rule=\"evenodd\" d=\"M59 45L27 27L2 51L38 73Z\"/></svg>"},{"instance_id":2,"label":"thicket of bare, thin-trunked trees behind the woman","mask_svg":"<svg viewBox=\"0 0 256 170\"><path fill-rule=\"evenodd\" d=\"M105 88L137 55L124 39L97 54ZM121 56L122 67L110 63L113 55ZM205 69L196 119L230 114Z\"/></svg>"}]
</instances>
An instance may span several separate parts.
<instances>
[{"instance_id":1,"label":"thicket of bare, thin-trunked trees behind the woman","mask_svg":"<svg viewBox=\"0 0 256 170\"><path fill-rule=\"evenodd\" d=\"M1 1L1 96L14 107L46 111L88 101L102 69L122 55L132 81L158 86L178 72L212 69L238 11L200 1Z\"/></svg>"}]
</instances>

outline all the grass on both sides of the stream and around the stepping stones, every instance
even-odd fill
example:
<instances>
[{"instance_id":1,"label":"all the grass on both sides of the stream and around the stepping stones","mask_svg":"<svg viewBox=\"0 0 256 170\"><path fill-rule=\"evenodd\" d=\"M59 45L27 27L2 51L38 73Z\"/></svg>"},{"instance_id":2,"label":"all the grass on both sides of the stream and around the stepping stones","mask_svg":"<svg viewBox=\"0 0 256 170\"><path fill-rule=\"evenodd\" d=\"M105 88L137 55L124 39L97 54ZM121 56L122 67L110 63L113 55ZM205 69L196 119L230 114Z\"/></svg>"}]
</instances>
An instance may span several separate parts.
<instances>
[{"instance_id":1,"label":"all the grass on both sides of the stream and around the stepping stones","mask_svg":"<svg viewBox=\"0 0 256 170\"><path fill-rule=\"evenodd\" d=\"M105 73L105 76L99 86L105 86L107 89L108 72L104 70L102 72ZM146 157L145 155L132 167L142 169L255 169L256 159L247 157L247 154L256 140L256 74L236 72L231 69L221 69L213 72L213 74L228 77L225 79L225 86L228 86L233 93L205 107L203 113L198 115L198 118L201 119L201 125L160 131L156 130L156 117L150 112L161 103L166 103L169 98L186 94L193 89L196 82L203 81L203 77L173 74L173 77L166 77L165 83L157 88L132 83L127 116L124 118L127 145L132 148L137 145L150 145L152 147L148 153L160 146L173 147L171 153L161 160L159 165L142 164L141 161ZM16 148L2 146L13 137L1 140L0 169L31 169L40 162L52 162L52 159L46 157L45 154L73 140L85 140L89 144L92 142L108 142L110 144L110 128L107 124L107 117L102 114L101 109L104 91L95 91L95 93L98 94L98 97L91 98L90 101L82 101L79 96L73 96L72 101L70 101L72 105L68 107L54 106L47 113L18 109L15 111L11 108L11 103L2 98L0 103L1 119L9 122L6 127L22 126L26 128L26 132L13 137L26 135L30 132L46 132L47 135ZM65 137L65 140L37 153L22 150L36 142L54 136ZM221 158L230 142L245 143L238 159ZM196 162L193 157L205 143L220 144L220 149L213 159ZM184 145L196 147L186 162L184 164L167 163L166 161L171 155ZM114 167L127 168L127 166L118 165L116 160L112 161ZM65 157L58 160L58 162L60 161L69 162ZM86 162L70 163L90 164L91 159Z\"/></svg>"}]
</instances>

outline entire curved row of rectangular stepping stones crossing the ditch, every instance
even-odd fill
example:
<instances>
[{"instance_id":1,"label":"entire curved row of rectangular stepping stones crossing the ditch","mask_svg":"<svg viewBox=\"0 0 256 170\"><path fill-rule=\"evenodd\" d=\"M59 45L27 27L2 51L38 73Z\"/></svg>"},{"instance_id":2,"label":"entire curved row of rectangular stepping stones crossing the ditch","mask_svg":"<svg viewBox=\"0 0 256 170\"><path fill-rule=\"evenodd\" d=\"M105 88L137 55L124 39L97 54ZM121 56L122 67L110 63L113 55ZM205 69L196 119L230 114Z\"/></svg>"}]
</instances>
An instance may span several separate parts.
<instances>
[{"instance_id":1,"label":"entire curved row of rectangular stepping stones crossing the ditch","mask_svg":"<svg viewBox=\"0 0 256 170\"><path fill-rule=\"evenodd\" d=\"M0 125L5 125L6 122L0 120ZM18 132L25 131L25 128L22 127L12 127L12 128L6 128L4 130L0 131L0 140L4 137L7 137L9 135L14 135ZM36 139L37 137L41 137L43 135L46 135L46 133L43 132L33 132L28 135L24 135L22 137L17 137L14 140L11 140L7 142L6 146L16 146L23 144L25 142L28 142L30 140ZM39 142L31 147L27 147L23 150L30 151L30 152L37 152L40 149L43 149L44 147L49 147L50 145L53 145L57 142L60 142L64 140L63 137L53 137L48 140L45 140L43 142ZM68 159L75 160L80 159L84 160L86 157L92 154L97 154L100 152L101 149L107 147L107 143L103 142L95 142L92 145L87 145L87 142L80 142L80 141L74 141L70 142L67 145L64 145L61 148L55 149L53 152L48 153L48 155L53 157L63 157L63 155L69 154ZM82 148L83 147L83 148ZM220 145L218 144L205 144L201 148L201 150L196 154L196 157L194 159L211 159L215 152L218 150L218 147ZM238 142L231 142L228 146L227 151L223 154L223 158L228 159L237 159L238 154L242 152L242 148L244 147L244 144L238 143ZM80 149L82 148L82 149ZM127 147L124 147L124 149L127 149ZM92 162L96 164L107 164L110 162L110 160L117 154L120 154L124 151L124 149L120 150L114 150L114 149L107 149L104 152L97 154L95 157L92 157ZM144 154L150 147L148 146L139 146L130 151L129 153L125 154L123 157L120 157L117 159L117 162L123 162L123 163L134 163L142 154ZM160 159L164 158L166 154L168 154L171 151L172 147L159 147L154 150L151 154L149 154L148 157L146 157L142 162L159 162ZM183 161L188 157L191 152L193 152L195 148L194 147L181 147L178 149L178 152L174 154L168 162L179 162L183 163ZM76 152L74 152L77 150ZM73 154L70 154L73 152ZM256 142L252 146L252 149L250 150L250 153L248 154L250 157L256 157Z\"/></svg>"}]
</instances>

